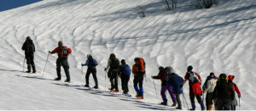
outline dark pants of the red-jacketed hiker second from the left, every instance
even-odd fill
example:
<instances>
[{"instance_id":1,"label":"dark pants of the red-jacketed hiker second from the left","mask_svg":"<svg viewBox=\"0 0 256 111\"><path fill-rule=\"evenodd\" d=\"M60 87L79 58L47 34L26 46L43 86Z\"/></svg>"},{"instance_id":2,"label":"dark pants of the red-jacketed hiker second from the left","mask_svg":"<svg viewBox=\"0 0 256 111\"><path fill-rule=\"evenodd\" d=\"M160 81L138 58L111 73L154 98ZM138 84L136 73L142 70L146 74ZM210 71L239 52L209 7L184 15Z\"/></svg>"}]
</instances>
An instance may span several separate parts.
<instances>
[{"instance_id":1,"label":"dark pants of the red-jacketed hiker second from the left","mask_svg":"<svg viewBox=\"0 0 256 111\"><path fill-rule=\"evenodd\" d=\"M56 65L57 65L56 71L57 71L58 78L61 79L61 66L62 66L65 71L67 81L70 81L69 64L68 64L67 58L57 58Z\"/></svg>"}]
</instances>

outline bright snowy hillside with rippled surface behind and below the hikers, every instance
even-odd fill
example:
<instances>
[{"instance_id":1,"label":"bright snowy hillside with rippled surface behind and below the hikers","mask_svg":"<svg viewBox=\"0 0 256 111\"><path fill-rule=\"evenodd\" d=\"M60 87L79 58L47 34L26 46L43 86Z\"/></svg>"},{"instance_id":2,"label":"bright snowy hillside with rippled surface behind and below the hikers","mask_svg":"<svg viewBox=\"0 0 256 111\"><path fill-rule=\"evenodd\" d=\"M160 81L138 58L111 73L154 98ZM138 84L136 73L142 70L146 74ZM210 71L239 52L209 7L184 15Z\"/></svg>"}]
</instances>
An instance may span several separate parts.
<instances>
[{"instance_id":1,"label":"bright snowy hillside with rippled surface behind and below the hikers","mask_svg":"<svg viewBox=\"0 0 256 111\"><path fill-rule=\"evenodd\" d=\"M145 18L137 14L138 5L146 8ZM44 0L5 10L0 12L0 109L169 110L172 108L156 105L162 101L160 80L154 80L156 95L150 79L158 74L159 66L168 65L181 76L188 65L193 65L203 81L210 72L235 75L241 91L240 109L256 109L255 12L255 0L224 0L209 9L192 9L189 1L181 0L172 11L165 11L164 4L155 0ZM32 37L37 49L37 75L21 72L21 46L26 36ZM73 50L68 58L71 84L53 80L57 55L49 56L42 77L48 51L57 47L59 41ZM80 64L88 53L99 62L100 91L80 86ZM136 57L145 59L145 101L103 92L103 69L110 53L125 59L130 66ZM84 67L84 74L85 71ZM63 69L61 75L65 80ZM94 85L92 76L90 85ZM130 83L129 86L134 96ZM191 108L188 87L186 83L184 94ZM171 104L171 97L167 98ZM196 107L200 109L198 103Z\"/></svg>"}]
</instances>

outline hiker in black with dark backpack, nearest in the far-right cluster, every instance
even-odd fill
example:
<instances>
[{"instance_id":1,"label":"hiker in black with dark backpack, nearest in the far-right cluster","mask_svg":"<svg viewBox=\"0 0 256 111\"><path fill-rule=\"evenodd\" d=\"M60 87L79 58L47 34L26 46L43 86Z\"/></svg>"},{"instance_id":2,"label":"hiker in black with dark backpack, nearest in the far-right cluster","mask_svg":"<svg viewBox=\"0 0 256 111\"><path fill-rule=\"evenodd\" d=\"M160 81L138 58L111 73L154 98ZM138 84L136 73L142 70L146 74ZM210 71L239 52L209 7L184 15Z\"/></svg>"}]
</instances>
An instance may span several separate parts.
<instances>
[{"instance_id":1,"label":"hiker in black with dark backpack, nearest in the far-right cluster","mask_svg":"<svg viewBox=\"0 0 256 111\"><path fill-rule=\"evenodd\" d=\"M234 101L235 93L228 83L229 78L225 74L220 74L213 91L218 110L230 110L230 101Z\"/></svg>"}]
</instances>

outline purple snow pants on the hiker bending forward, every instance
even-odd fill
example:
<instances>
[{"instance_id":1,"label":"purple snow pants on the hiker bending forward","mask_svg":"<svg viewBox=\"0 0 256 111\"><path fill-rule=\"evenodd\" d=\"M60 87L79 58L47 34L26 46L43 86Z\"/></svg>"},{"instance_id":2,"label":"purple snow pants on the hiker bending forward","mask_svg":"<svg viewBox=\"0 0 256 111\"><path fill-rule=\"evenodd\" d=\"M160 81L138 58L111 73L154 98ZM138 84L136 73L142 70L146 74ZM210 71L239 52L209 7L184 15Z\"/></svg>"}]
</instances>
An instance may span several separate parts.
<instances>
[{"instance_id":1,"label":"purple snow pants on the hiker bending forward","mask_svg":"<svg viewBox=\"0 0 256 111\"><path fill-rule=\"evenodd\" d=\"M167 98L166 98L166 90L169 92L170 97L172 97L172 102L176 102L176 97L174 93L172 92L172 86L161 86L161 97L165 103L167 103Z\"/></svg>"}]
</instances>

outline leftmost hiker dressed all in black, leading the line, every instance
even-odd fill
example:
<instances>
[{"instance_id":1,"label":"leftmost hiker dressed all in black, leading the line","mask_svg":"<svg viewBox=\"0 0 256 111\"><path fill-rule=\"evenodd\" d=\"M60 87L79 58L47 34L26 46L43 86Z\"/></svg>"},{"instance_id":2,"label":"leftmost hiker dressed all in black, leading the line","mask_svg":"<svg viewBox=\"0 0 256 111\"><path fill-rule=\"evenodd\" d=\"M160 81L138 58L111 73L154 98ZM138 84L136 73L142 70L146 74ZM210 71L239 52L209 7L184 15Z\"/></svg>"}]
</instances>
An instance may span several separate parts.
<instances>
[{"instance_id":1,"label":"leftmost hiker dressed all in black, leading the line","mask_svg":"<svg viewBox=\"0 0 256 111\"><path fill-rule=\"evenodd\" d=\"M31 67L32 73L36 73L36 66L34 64L34 52L36 52L36 48L30 36L26 37L26 41L23 43L21 49L25 51L25 58L27 64L26 73L31 73Z\"/></svg>"}]
</instances>

